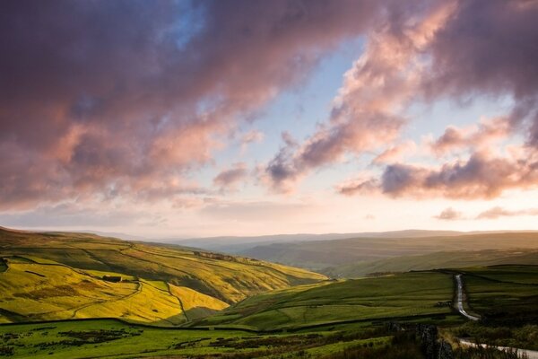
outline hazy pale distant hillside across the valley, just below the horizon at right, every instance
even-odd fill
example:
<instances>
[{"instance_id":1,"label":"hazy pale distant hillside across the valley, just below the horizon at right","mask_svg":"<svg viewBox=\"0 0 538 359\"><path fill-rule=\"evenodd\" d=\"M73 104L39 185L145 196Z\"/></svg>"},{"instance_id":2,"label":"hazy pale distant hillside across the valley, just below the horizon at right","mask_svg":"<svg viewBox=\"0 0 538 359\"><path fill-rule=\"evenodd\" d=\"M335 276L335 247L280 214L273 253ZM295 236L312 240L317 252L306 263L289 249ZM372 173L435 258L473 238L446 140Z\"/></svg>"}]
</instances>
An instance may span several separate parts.
<instances>
[{"instance_id":1,"label":"hazy pale distant hillside across the valley, just below the horizon at right","mask_svg":"<svg viewBox=\"0 0 538 359\"><path fill-rule=\"evenodd\" d=\"M361 261L457 250L538 250L536 232L501 232L421 238L351 238L274 243L241 254L289 266L319 270Z\"/></svg>"}]
</instances>

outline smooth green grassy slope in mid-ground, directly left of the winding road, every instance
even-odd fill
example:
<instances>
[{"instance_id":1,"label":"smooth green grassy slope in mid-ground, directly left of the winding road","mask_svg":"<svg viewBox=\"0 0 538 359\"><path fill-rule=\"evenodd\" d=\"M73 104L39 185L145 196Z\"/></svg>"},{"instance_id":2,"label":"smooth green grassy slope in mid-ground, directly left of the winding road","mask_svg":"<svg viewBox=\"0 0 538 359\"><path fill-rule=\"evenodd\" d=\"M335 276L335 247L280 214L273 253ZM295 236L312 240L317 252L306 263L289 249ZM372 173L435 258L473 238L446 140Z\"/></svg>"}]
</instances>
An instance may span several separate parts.
<instances>
[{"instance_id":1,"label":"smooth green grassy slope in mid-ground, directly left of the winding road","mask_svg":"<svg viewBox=\"0 0 538 359\"><path fill-rule=\"evenodd\" d=\"M206 326L300 328L352 320L449 314L437 302L450 301L452 276L437 272L406 273L264 293L202 320Z\"/></svg>"}]
</instances>

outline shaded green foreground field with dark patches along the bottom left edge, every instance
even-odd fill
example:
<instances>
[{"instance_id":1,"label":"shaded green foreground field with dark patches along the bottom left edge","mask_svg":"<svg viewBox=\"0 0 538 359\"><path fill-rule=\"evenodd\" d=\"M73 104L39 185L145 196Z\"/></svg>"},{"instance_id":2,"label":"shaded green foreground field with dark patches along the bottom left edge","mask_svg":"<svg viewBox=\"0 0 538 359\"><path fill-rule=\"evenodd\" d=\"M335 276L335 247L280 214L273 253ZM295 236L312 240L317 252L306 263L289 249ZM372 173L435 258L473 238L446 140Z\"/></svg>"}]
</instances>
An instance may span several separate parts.
<instances>
[{"instance_id":1,"label":"shaded green foreground field with dark patches along the bottom left edge","mask_svg":"<svg viewBox=\"0 0 538 359\"><path fill-rule=\"evenodd\" d=\"M2 350L17 358L305 357L351 346L376 348L390 342L385 330L360 335L332 332L258 335L242 330L163 329L115 320L78 320L0 326ZM10 355L10 356L11 356Z\"/></svg>"}]
</instances>

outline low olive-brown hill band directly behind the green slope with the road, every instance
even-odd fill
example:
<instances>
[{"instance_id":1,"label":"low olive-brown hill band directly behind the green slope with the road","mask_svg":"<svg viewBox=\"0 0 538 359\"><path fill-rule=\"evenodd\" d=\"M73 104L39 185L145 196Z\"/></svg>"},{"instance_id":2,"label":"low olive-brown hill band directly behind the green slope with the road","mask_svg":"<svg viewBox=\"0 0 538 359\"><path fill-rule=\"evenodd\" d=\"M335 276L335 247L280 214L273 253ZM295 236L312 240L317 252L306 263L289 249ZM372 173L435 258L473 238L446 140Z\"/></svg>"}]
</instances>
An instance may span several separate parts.
<instances>
[{"instance_id":1,"label":"low olive-brown hill band directly behind the green slope with the road","mask_svg":"<svg viewBox=\"0 0 538 359\"><path fill-rule=\"evenodd\" d=\"M359 262L321 270L327 276L356 278L376 273L435 268L485 267L502 264L538 264L538 250L458 250Z\"/></svg>"}]
</instances>

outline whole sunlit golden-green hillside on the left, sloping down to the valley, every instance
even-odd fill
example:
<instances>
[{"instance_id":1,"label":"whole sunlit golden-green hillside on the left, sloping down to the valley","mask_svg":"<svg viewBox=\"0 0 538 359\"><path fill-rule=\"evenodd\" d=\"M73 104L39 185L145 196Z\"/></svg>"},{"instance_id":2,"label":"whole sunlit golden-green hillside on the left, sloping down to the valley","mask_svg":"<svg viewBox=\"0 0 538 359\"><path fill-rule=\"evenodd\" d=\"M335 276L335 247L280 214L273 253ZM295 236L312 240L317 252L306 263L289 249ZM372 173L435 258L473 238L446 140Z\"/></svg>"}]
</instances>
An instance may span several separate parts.
<instances>
[{"instance_id":1,"label":"whole sunlit golden-green hillside on the left, sloping down to the valley","mask_svg":"<svg viewBox=\"0 0 538 359\"><path fill-rule=\"evenodd\" d=\"M325 279L255 259L85 233L0 229L0 258L4 322L118 317L178 324L249 295Z\"/></svg>"}]
</instances>

